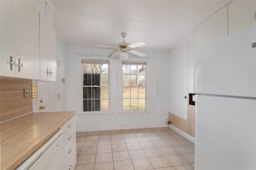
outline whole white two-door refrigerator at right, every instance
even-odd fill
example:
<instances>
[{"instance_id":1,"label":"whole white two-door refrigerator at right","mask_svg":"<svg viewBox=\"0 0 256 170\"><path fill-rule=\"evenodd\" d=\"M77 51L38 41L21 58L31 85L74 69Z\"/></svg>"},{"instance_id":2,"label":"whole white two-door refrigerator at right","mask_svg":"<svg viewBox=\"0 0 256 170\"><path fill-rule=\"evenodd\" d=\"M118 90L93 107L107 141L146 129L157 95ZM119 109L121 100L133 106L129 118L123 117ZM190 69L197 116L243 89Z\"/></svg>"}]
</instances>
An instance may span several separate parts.
<instances>
[{"instance_id":1,"label":"whole white two-door refrigerator at right","mask_svg":"<svg viewBox=\"0 0 256 170\"><path fill-rule=\"evenodd\" d=\"M196 170L256 170L256 24L198 48Z\"/></svg>"}]
</instances>

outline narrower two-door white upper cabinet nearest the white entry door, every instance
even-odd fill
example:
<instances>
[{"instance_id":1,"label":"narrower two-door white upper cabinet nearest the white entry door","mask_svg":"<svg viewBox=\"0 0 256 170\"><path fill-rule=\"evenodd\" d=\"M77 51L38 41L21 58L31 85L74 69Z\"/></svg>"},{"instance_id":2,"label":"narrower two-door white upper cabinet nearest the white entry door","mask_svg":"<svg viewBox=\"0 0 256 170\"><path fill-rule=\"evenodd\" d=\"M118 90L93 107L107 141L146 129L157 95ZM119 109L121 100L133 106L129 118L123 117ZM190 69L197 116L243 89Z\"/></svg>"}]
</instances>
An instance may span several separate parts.
<instances>
[{"instance_id":1,"label":"narrower two-door white upper cabinet nearest the white entry door","mask_svg":"<svg viewBox=\"0 0 256 170\"><path fill-rule=\"evenodd\" d=\"M40 15L40 80L56 81L56 32Z\"/></svg>"}]
</instances>

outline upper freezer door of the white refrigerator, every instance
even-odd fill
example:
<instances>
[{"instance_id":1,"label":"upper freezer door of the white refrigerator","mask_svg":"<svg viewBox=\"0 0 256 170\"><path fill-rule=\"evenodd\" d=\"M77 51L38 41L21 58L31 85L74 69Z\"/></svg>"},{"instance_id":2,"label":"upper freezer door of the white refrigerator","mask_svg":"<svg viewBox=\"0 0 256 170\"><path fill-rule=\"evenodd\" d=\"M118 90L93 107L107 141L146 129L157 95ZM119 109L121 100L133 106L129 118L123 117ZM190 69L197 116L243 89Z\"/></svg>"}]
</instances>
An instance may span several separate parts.
<instances>
[{"instance_id":1,"label":"upper freezer door of the white refrigerator","mask_svg":"<svg viewBox=\"0 0 256 170\"><path fill-rule=\"evenodd\" d=\"M198 48L196 93L256 97L256 24Z\"/></svg>"}]
</instances>

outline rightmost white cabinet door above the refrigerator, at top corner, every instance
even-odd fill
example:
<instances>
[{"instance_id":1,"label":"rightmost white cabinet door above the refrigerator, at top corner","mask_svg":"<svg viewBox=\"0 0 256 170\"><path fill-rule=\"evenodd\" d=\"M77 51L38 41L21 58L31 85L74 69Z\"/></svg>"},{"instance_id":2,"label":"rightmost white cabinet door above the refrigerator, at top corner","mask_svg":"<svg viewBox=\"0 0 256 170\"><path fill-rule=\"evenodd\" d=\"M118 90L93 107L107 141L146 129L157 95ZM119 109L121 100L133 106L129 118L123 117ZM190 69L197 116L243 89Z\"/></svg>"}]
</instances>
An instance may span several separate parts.
<instances>
[{"instance_id":1,"label":"rightmost white cabinet door above the refrigerator, at top corner","mask_svg":"<svg viewBox=\"0 0 256 170\"><path fill-rule=\"evenodd\" d=\"M255 24L255 0L235 0L228 4L228 34Z\"/></svg>"}]
</instances>

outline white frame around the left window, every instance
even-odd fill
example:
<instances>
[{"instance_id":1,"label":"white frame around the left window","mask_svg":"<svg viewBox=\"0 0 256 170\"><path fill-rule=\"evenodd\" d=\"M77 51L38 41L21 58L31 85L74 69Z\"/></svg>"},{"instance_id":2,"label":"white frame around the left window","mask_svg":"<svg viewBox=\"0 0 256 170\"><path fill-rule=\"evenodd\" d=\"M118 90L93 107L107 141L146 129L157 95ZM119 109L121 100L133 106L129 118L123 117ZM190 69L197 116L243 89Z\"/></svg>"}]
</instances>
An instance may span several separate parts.
<instances>
[{"instance_id":1,"label":"white frame around the left window","mask_svg":"<svg viewBox=\"0 0 256 170\"><path fill-rule=\"evenodd\" d=\"M82 59L85 60L108 60L109 65L108 65L108 83L109 83L109 88L108 88L108 111L92 111L92 112L84 112L83 111L83 85L82 85L82 80L83 80L83 68L81 61ZM78 115L79 116L85 116L85 117L90 117L90 116L111 116L113 114L111 110L111 104L110 104L110 58L102 58L102 57L78 57Z\"/></svg>"}]
</instances>

